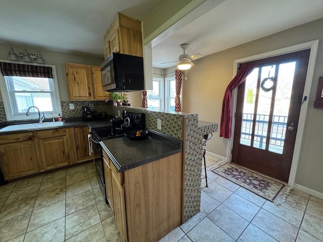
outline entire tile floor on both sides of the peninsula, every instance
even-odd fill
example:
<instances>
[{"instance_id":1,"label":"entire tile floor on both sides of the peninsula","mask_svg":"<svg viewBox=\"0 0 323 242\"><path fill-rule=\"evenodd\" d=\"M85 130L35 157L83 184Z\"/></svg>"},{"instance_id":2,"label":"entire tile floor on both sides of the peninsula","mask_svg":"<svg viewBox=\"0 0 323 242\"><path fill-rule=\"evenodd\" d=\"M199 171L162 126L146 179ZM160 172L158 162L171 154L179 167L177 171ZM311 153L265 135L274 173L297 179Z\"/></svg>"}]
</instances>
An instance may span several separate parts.
<instances>
[{"instance_id":1,"label":"entire tile floor on both sides of the peninsula","mask_svg":"<svg viewBox=\"0 0 323 242\"><path fill-rule=\"evenodd\" d=\"M206 161L200 212L159 241L323 241L323 200L293 190L277 207ZM0 208L1 242L122 241L92 163L0 186Z\"/></svg>"}]
</instances>

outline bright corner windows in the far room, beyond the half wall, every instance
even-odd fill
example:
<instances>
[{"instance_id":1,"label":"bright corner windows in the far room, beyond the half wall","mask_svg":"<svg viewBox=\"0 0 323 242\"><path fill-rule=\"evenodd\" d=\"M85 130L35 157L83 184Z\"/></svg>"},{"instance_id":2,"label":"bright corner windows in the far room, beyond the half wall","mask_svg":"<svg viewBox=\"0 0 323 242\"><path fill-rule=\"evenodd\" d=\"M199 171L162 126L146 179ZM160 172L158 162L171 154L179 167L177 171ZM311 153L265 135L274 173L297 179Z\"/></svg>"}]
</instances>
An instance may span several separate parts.
<instances>
[{"instance_id":1,"label":"bright corner windows in the far room, beyond the half wall","mask_svg":"<svg viewBox=\"0 0 323 242\"><path fill-rule=\"evenodd\" d=\"M148 109L175 111L175 76L165 79L154 77L152 88L152 90L147 91Z\"/></svg>"}]
</instances>

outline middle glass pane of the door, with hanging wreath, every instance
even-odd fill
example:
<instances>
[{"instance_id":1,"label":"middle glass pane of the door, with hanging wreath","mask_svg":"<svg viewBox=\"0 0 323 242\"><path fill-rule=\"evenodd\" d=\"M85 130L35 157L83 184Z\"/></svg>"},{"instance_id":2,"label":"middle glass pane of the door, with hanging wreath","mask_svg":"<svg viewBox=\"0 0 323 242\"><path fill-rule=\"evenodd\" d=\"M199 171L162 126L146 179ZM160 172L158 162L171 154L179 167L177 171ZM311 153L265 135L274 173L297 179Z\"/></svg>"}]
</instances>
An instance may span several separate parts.
<instances>
[{"instance_id":1,"label":"middle glass pane of the door, with hanging wreath","mask_svg":"<svg viewBox=\"0 0 323 242\"><path fill-rule=\"evenodd\" d=\"M262 150L266 148L266 136L271 111L275 69L275 65L261 68L253 147Z\"/></svg>"}]
</instances>

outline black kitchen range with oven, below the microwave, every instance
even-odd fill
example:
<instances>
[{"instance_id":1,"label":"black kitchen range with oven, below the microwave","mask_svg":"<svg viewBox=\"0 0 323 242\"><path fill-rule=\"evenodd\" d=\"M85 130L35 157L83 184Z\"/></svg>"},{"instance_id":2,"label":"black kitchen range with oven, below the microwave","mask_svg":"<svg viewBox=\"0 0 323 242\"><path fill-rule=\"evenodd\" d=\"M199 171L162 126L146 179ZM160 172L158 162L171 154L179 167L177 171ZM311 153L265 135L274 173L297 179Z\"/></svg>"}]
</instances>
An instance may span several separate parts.
<instances>
[{"instance_id":1,"label":"black kitchen range with oven, below the microwave","mask_svg":"<svg viewBox=\"0 0 323 242\"><path fill-rule=\"evenodd\" d=\"M137 130L144 130L146 128L146 119L145 119L145 114L144 113L137 113L137 112L127 112L123 111L122 112L122 118L120 118L122 121L124 119L130 120L130 125L132 129L137 129ZM118 120L120 120L118 119ZM112 121L113 119L111 119ZM110 122L111 122L110 121ZM113 122L111 122L112 124ZM118 123L118 126L120 127L120 123ZM105 197L105 202L107 203L106 200L106 194L105 194L105 178L104 178L104 169L103 169L103 156L102 156L102 148L99 145L99 143L102 140L106 139L113 139L113 138L119 138L119 137L124 137L124 132L122 131L121 128L116 128L113 130L113 126L105 126L105 127L98 127L98 128L91 128L91 132L89 134L89 141L93 145L98 145L99 149L101 151L101 158L100 159L93 159L94 166L96 168L98 177L99 177L99 182L102 184L102 193Z\"/></svg>"}]
</instances>

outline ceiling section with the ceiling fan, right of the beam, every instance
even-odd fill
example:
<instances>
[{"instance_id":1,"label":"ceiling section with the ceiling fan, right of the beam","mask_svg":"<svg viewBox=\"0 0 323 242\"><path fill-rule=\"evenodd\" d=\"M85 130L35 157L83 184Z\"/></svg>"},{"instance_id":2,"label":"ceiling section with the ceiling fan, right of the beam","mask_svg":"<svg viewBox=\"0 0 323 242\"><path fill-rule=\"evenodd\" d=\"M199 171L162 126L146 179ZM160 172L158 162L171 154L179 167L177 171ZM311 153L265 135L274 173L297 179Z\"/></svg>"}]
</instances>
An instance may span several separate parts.
<instances>
[{"instance_id":1,"label":"ceiling section with the ceiling fan, right of the beam","mask_svg":"<svg viewBox=\"0 0 323 242\"><path fill-rule=\"evenodd\" d=\"M176 65L160 63L178 61L182 43L190 55L208 55L319 18L323 0L226 0L153 46L153 67Z\"/></svg>"}]
</instances>

